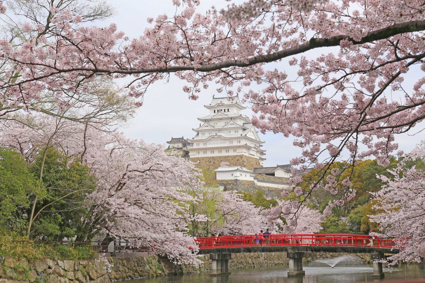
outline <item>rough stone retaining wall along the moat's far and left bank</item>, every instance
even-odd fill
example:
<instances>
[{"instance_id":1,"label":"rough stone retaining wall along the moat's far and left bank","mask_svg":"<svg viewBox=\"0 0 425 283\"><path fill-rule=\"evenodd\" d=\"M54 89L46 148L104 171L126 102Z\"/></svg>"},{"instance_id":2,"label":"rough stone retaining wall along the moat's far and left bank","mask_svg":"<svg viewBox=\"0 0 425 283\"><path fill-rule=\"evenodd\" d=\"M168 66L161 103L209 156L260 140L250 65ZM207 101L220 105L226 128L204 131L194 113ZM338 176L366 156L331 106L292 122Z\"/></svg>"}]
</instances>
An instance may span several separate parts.
<instances>
[{"instance_id":1,"label":"rough stone retaining wall along the moat's far and left bank","mask_svg":"<svg viewBox=\"0 0 425 283\"><path fill-rule=\"evenodd\" d=\"M371 263L369 254L312 252L306 253L304 262L356 255L363 263ZM100 258L91 261L36 260L16 261L0 257L0 283L110 283L139 277L178 275L204 272L211 269L209 255L200 255L204 262L198 268L178 266L167 258L156 255L127 258ZM288 264L285 252L233 254L231 269Z\"/></svg>"}]
</instances>

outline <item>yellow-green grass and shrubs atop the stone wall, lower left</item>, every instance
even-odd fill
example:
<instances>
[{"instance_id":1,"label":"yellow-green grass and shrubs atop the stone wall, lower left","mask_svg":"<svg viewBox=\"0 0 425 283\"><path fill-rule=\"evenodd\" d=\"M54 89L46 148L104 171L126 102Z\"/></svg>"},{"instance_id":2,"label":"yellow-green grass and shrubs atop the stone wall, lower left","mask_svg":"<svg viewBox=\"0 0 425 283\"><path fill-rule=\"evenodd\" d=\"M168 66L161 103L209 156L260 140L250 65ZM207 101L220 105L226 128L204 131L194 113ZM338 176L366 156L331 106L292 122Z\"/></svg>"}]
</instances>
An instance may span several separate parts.
<instances>
[{"instance_id":1,"label":"yellow-green grass and shrubs atop the stone wall, lower left","mask_svg":"<svg viewBox=\"0 0 425 283\"><path fill-rule=\"evenodd\" d=\"M17 260L38 258L88 260L94 258L95 252L90 247L72 247L66 245L50 246L28 240L26 237L6 229L0 229L0 256L9 256Z\"/></svg>"}]
</instances>

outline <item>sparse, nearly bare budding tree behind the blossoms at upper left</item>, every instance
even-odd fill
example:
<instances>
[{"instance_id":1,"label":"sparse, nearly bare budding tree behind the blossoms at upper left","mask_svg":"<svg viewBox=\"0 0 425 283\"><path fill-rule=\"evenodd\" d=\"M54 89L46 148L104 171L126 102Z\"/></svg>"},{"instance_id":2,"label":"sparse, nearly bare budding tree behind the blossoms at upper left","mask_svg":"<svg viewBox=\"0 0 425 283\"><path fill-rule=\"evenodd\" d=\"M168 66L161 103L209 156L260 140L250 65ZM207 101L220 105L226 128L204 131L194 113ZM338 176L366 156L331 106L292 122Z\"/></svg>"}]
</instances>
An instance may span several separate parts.
<instances>
[{"instance_id":1,"label":"sparse, nearly bare budding tree behind the blossoms at upper left","mask_svg":"<svg viewBox=\"0 0 425 283\"><path fill-rule=\"evenodd\" d=\"M56 28L52 22L50 8L58 12L69 10L79 14L82 22L105 20L114 15L114 9L102 0L8 0L2 5L8 7L7 17L2 18L0 38L7 39L12 50L22 48L28 42L37 41L40 36L48 36L48 31ZM27 31L28 25L37 25L37 29ZM50 40L50 39L49 39ZM36 46L40 46L37 42ZM14 69L13 62L4 59L0 65L0 73L11 73L11 80L19 80L22 73ZM43 112L60 118L74 121L102 124L119 123L134 112L134 101L123 95L122 90L110 79L98 77L93 80L77 82L81 84L82 92L68 92L66 88L58 88L57 92L42 90L36 94L37 99L21 103L10 100L3 95L0 104L0 118L10 118L10 114L18 110L26 112ZM59 100L58 94L62 99Z\"/></svg>"}]
</instances>

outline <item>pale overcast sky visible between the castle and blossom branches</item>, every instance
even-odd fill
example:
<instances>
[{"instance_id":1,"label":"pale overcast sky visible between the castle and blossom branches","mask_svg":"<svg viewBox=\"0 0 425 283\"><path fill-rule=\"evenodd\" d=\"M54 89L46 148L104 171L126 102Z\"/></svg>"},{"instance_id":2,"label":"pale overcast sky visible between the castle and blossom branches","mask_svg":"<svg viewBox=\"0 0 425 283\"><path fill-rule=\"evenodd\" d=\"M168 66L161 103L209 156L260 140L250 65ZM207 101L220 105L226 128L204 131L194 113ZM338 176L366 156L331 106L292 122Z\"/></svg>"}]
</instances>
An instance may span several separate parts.
<instances>
[{"instance_id":1,"label":"pale overcast sky visible between the castle and blossom branches","mask_svg":"<svg viewBox=\"0 0 425 283\"><path fill-rule=\"evenodd\" d=\"M149 26L147 17L155 18L158 14L174 14L175 7L171 4L172 0L107 0L116 7L117 16L106 22L98 22L96 25L108 25L115 22L118 30L125 31L131 39L138 37L143 33L144 28ZM198 11L206 11L212 4L217 9L224 7L228 2L224 0L201 1ZM309 55L323 53L323 50L310 51ZM328 49L329 52L329 49ZM286 70L287 73L295 73L296 68L290 67L286 61L271 64L270 67L277 67L279 70ZM292 72L291 68L294 70ZM419 70L419 68L418 68ZM421 71L417 72L421 73ZM423 74L423 73L422 73ZM421 75L422 75L421 74ZM419 76L419 75L418 75ZM416 78L407 78L416 79ZM413 83L412 83L413 84ZM215 87L210 87L207 91L201 92L197 101L187 98L187 93L182 91L185 85L184 81L178 80L175 76L170 76L168 84L156 82L147 94L144 96L144 105L138 110L136 117L130 121L130 124L123 131L128 137L143 139L147 143L164 144L171 137L192 138L195 135L193 128L199 126L198 117L208 115L208 110L204 104L210 104L212 95L223 94L215 93ZM261 88L261 86L259 87ZM249 105L245 105L248 106ZM248 108L244 114L252 117L253 112ZM414 132L421 128L414 128ZM416 130L416 131L415 131ZM413 132L411 132L413 134ZM275 166L276 164L287 164L293 157L300 155L300 149L292 145L292 137L285 138L283 134L259 133L260 138L265 141L263 149L266 149L266 161L264 166ZM424 134L419 133L414 137L404 134L397 136L399 148L405 152L411 151L414 145L420 140L425 139Z\"/></svg>"}]
</instances>

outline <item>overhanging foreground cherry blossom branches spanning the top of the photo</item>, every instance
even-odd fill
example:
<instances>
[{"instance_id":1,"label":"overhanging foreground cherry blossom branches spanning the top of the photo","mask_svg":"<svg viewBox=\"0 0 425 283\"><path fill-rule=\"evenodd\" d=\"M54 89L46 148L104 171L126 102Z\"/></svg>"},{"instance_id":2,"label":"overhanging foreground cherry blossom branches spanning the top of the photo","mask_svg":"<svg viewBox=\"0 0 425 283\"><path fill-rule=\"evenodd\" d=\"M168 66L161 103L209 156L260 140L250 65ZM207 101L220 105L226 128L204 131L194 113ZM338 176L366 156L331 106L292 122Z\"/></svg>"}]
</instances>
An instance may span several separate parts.
<instances>
[{"instance_id":1,"label":"overhanging foreground cherry blossom branches spanning the top of the photo","mask_svg":"<svg viewBox=\"0 0 425 283\"><path fill-rule=\"evenodd\" d=\"M292 165L324 171L343 150L351 170L367 156L387 164L395 135L425 118L423 74L405 81L425 70L421 1L249 0L206 14L197 0L173 3L176 14L147 19L150 27L132 40L114 24L81 25L77 10L55 6L48 29L25 22L23 33L40 36L20 46L0 41L10 64L0 81L3 106L29 109L48 91L66 108L68 93L84 97L85 82L100 76L132 76L127 94L141 105L151 84L174 73L193 99L210 82L229 96L244 94L259 113L255 126L296 138L303 152ZM3 2L0 12L7 13Z\"/></svg>"}]
</instances>

